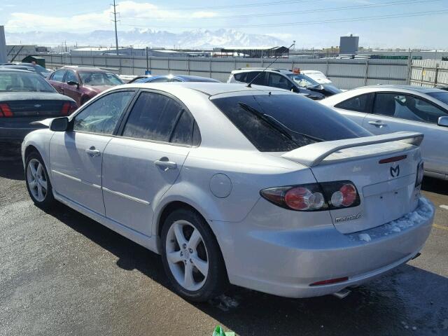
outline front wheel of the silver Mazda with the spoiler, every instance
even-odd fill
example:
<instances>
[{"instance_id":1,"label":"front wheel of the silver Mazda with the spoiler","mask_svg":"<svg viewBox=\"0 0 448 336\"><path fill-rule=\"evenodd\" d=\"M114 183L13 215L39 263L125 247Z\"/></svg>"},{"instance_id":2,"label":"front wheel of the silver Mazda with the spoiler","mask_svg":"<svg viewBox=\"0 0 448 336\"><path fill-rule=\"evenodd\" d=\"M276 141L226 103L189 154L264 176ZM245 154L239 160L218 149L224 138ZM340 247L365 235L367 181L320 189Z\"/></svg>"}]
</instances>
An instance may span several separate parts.
<instances>
[{"instance_id":1,"label":"front wheel of the silver Mazda with the spoiler","mask_svg":"<svg viewBox=\"0 0 448 336\"><path fill-rule=\"evenodd\" d=\"M47 169L36 151L29 153L25 160L25 182L29 197L36 206L48 209L55 203Z\"/></svg>"}]
</instances>

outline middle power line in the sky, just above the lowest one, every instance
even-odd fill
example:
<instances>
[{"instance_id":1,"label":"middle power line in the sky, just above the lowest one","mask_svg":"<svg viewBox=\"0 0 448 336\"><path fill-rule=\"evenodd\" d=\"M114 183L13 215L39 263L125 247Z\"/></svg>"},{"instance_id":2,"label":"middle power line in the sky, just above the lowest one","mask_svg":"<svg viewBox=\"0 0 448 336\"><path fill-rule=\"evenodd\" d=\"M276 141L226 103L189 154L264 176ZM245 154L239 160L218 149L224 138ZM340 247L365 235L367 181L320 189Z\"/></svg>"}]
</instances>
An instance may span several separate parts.
<instances>
[{"instance_id":1,"label":"middle power line in the sky, just above the lowest one","mask_svg":"<svg viewBox=\"0 0 448 336\"><path fill-rule=\"evenodd\" d=\"M261 14L246 14L246 15L218 15L213 17L205 17L205 18L192 18L195 20L216 20L216 19L237 19L237 18L262 18L262 17L270 17L270 16L279 16L279 15L292 15L292 14L307 14L307 13L315 13L315 12L334 12L334 11L342 11L342 10L351 10L351 9L364 9L364 8L377 8L377 7L386 7L386 6L396 6L401 5L403 3L412 4L412 3L428 3L442 0L402 0L402 1L393 1L386 3L370 3L366 5L355 5L355 6L343 6L343 7L333 7L333 8L314 8L310 10L296 10L296 11L288 11L288 12L279 12L279 13L261 13ZM306 1L309 2L309 1ZM316 2L316 0L311 0L311 2ZM152 20L179 20L176 17L146 17L146 16L125 16L125 19L152 19ZM188 18L186 18L188 19Z\"/></svg>"}]
</instances>

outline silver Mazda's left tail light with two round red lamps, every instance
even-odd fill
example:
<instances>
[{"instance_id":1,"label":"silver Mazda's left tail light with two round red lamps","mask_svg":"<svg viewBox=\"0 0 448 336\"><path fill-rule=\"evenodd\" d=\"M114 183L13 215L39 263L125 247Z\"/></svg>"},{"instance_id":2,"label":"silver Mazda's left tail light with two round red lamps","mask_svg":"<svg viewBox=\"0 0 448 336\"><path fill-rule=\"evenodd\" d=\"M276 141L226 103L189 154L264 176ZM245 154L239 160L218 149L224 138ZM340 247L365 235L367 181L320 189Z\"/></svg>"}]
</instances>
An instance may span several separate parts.
<instances>
[{"instance_id":1,"label":"silver Mazda's left tail light with two round red lamps","mask_svg":"<svg viewBox=\"0 0 448 336\"><path fill-rule=\"evenodd\" d=\"M360 204L358 190L351 181L267 188L260 195L279 207L295 211L342 209Z\"/></svg>"}]
</instances>

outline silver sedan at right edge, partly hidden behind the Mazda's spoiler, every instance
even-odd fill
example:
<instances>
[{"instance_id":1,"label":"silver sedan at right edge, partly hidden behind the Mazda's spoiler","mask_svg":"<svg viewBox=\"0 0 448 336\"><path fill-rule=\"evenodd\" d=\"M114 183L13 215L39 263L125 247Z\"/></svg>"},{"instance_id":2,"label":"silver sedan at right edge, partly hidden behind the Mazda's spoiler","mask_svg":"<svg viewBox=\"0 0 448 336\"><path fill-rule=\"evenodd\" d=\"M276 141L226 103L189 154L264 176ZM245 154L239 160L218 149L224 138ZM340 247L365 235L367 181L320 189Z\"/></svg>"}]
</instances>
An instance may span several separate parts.
<instances>
[{"instance_id":1,"label":"silver sedan at right edge, partly hidden behind the Mazda's spoiler","mask_svg":"<svg viewBox=\"0 0 448 336\"><path fill-rule=\"evenodd\" d=\"M374 85L321 101L373 134L425 134L421 153L425 174L448 179L448 92L419 86Z\"/></svg>"}]
</instances>

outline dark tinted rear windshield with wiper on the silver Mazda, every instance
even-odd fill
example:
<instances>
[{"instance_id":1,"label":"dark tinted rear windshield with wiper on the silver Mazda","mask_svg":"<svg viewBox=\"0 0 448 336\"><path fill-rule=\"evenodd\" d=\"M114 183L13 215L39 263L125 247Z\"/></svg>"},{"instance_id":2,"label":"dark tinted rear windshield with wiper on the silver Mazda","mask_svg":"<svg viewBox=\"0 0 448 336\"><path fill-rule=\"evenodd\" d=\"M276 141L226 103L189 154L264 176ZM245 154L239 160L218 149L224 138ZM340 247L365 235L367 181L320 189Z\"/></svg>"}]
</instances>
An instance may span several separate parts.
<instances>
[{"instance_id":1,"label":"dark tinted rear windshield with wiper on the silver Mazda","mask_svg":"<svg viewBox=\"0 0 448 336\"><path fill-rule=\"evenodd\" d=\"M261 152L286 152L319 141L372 135L351 120L298 94L212 98Z\"/></svg>"}]
</instances>

